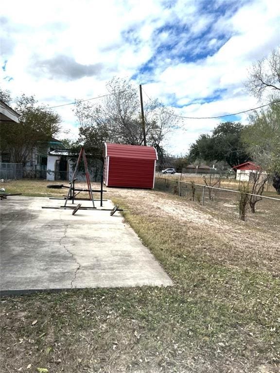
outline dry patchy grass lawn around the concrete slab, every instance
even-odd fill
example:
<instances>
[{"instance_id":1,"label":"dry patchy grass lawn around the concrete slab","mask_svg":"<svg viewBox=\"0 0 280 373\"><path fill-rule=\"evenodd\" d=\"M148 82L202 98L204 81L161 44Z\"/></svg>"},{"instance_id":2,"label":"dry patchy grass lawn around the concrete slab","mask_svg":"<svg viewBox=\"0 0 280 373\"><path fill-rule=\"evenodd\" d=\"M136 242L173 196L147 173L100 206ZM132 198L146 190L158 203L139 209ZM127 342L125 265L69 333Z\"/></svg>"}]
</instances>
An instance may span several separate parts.
<instances>
[{"instance_id":1,"label":"dry patchy grass lawn around the concrete slab","mask_svg":"<svg viewBox=\"0 0 280 373\"><path fill-rule=\"evenodd\" d=\"M65 193L47 184L5 187ZM241 222L215 201L107 190L175 285L2 298L2 371L279 373L278 202Z\"/></svg>"}]
</instances>

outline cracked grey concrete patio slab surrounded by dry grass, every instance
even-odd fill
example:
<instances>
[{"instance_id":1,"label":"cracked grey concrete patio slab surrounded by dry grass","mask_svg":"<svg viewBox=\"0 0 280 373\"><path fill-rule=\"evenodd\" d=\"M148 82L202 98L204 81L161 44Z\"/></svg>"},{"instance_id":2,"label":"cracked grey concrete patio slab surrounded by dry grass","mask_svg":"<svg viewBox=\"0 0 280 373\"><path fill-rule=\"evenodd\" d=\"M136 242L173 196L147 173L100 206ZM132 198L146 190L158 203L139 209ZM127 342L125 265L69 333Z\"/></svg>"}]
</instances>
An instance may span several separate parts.
<instances>
[{"instance_id":1,"label":"cracked grey concrete patio slab surrounded by dry grass","mask_svg":"<svg viewBox=\"0 0 280 373\"><path fill-rule=\"evenodd\" d=\"M75 201L75 204L78 203ZM80 203L80 202L79 202ZM92 206L82 201L82 206ZM172 281L119 212L42 209L64 201L0 202L0 291L168 286ZM70 205L71 202L68 202ZM96 202L99 207L99 202ZM113 208L111 201L104 208Z\"/></svg>"}]
</instances>

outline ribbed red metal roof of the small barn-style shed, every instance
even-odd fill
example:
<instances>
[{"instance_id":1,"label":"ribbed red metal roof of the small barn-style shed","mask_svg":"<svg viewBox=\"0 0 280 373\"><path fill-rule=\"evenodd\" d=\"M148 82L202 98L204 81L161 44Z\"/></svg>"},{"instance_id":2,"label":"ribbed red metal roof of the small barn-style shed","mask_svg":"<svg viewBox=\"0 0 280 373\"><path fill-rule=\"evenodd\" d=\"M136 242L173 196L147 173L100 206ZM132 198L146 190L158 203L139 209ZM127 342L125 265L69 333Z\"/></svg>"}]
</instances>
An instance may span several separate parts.
<instances>
[{"instance_id":1,"label":"ribbed red metal roof of the small barn-style shed","mask_svg":"<svg viewBox=\"0 0 280 373\"><path fill-rule=\"evenodd\" d=\"M157 159L153 146L123 145L105 143L105 156L130 159Z\"/></svg>"}]
</instances>

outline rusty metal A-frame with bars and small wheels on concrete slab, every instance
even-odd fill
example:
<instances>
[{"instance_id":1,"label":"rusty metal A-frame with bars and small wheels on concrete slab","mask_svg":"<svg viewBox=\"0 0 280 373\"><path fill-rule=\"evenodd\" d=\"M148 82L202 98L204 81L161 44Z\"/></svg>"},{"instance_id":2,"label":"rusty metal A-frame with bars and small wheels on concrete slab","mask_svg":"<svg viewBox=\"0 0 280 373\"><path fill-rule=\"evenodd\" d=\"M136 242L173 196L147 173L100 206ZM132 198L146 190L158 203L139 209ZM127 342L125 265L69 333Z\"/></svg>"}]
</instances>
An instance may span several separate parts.
<instances>
[{"instance_id":1,"label":"rusty metal A-frame with bars and small wheels on concrete slab","mask_svg":"<svg viewBox=\"0 0 280 373\"><path fill-rule=\"evenodd\" d=\"M86 180L87 180L88 189L75 188L75 181L77 180L77 172L78 172L79 164L81 163L82 160L84 162L85 174L86 174ZM100 203L100 206L102 207L102 203L103 203L103 192L106 191L106 190L103 190L103 177L101 178L101 189L100 190L92 190L91 185L90 185L90 179L89 179L88 162L87 162L87 157L86 157L86 152L85 152L85 148L84 147L81 148L81 151L79 153L78 160L77 160L77 163L76 163L76 166L75 166L75 170L74 170L74 173L73 173L73 176L72 176L72 180L71 180L70 186L64 186L62 184L62 185L49 185L48 187L49 188L55 188L55 189L63 188L64 187L64 188L69 188L69 190L68 190L66 198L63 198L63 199L65 199L65 203L64 203L63 206L59 206L59 207L42 206L42 208L72 209L73 210L72 211L72 215L75 215L76 212L79 209L80 210L97 210L97 208L95 207L95 204L94 204L93 192L99 192L99 193L101 193L101 197L100 197L100 202L101 203ZM68 200L72 200L72 203L74 203L74 199L75 199L76 195L79 194L80 192L88 192L89 199L83 199L83 200L92 201L92 207L83 207L82 203L78 203L76 206L67 206ZM50 199L61 199L61 198L50 198ZM119 208L118 204L116 204L113 209L101 208L101 209L98 209L98 210L99 211L110 211L110 215L111 216L114 215L116 211L123 211L123 209Z\"/></svg>"}]
</instances>

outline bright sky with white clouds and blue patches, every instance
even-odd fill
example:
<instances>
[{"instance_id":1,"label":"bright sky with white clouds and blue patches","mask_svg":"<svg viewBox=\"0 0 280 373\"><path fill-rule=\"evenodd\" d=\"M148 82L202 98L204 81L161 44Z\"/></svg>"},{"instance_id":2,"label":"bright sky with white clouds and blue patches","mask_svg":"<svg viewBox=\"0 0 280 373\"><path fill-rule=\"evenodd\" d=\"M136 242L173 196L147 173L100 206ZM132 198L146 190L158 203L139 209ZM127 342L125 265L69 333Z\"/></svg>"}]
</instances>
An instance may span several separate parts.
<instances>
[{"instance_id":1,"label":"bright sky with white clouds and blue patches","mask_svg":"<svg viewBox=\"0 0 280 373\"><path fill-rule=\"evenodd\" d=\"M277 0L9 0L0 86L56 106L106 94L108 80L126 77L178 115L220 116L259 105L244 88L248 68L279 45ZM54 109L68 137L78 134L72 109ZM169 152L185 154L220 121L184 119Z\"/></svg>"}]
</instances>

